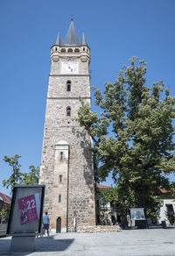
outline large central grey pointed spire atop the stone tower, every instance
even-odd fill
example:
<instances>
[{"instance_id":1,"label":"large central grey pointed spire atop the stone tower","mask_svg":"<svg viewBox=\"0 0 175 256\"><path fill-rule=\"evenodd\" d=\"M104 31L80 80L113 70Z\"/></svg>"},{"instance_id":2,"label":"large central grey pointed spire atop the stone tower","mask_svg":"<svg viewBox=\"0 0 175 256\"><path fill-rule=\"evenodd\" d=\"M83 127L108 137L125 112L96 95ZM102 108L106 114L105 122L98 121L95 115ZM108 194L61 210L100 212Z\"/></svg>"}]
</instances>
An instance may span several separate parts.
<instances>
[{"instance_id":1,"label":"large central grey pointed spire atop the stone tower","mask_svg":"<svg viewBox=\"0 0 175 256\"><path fill-rule=\"evenodd\" d=\"M71 18L71 25L66 33L63 46L80 46L80 41L73 25L73 18Z\"/></svg>"}]
</instances>

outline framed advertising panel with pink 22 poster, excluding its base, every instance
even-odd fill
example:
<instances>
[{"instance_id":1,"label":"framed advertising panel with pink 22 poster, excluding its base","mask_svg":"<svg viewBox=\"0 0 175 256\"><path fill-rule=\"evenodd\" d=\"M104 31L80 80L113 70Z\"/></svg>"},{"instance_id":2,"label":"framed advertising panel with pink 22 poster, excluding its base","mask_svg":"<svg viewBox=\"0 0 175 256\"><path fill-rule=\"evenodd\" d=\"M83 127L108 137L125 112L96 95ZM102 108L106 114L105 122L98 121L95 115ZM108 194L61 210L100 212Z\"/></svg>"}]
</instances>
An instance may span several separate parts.
<instances>
[{"instance_id":1,"label":"framed advertising panel with pink 22 poster, excluding its base","mask_svg":"<svg viewBox=\"0 0 175 256\"><path fill-rule=\"evenodd\" d=\"M7 234L40 232L44 194L45 185L14 187Z\"/></svg>"}]
</instances>

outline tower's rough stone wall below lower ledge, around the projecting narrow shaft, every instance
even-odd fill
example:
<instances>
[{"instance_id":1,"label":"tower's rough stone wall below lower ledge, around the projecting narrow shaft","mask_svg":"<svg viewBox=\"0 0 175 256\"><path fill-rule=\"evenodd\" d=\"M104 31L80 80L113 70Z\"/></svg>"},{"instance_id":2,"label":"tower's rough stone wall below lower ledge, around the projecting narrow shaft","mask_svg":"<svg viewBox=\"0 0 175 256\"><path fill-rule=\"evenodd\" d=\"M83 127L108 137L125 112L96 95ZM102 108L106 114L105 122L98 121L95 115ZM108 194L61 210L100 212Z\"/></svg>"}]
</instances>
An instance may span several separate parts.
<instances>
[{"instance_id":1,"label":"tower's rough stone wall below lower ledge, around the projecting narrow shaft","mask_svg":"<svg viewBox=\"0 0 175 256\"><path fill-rule=\"evenodd\" d=\"M59 103L58 103L59 101ZM69 188L68 188L68 222L69 230L73 229L73 210L76 211L77 223L95 224L95 188L92 170L91 139L77 126L71 117L66 116L67 104L76 113L81 106L78 100L50 99L45 118L45 135L41 164L40 182L45 183L45 208L52 210L54 184L55 145L63 139L70 146L69 155ZM75 115L73 115L75 116ZM69 124L68 124L69 122ZM59 125L58 125L59 124ZM59 126L59 127L58 127ZM59 182L59 181L58 181ZM49 213L50 214L50 213ZM51 215L51 214L50 214ZM51 216L56 222L59 212Z\"/></svg>"}]
</instances>

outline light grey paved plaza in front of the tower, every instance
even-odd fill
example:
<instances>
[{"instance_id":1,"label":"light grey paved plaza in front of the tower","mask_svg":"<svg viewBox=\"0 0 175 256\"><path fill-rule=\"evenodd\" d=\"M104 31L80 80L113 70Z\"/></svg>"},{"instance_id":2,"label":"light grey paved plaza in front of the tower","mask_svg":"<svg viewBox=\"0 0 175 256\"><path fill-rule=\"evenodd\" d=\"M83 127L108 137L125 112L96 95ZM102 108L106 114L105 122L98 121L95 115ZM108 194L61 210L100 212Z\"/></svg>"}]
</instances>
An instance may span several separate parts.
<instances>
[{"instance_id":1,"label":"light grey paved plaza in front of the tower","mask_svg":"<svg viewBox=\"0 0 175 256\"><path fill-rule=\"evenodd\" d=\"M2 255L175 255L175 228L110 233L59 233L36 238L35 252L10 252L11 238L0 238Z\"/></svg>"}]
</instances>

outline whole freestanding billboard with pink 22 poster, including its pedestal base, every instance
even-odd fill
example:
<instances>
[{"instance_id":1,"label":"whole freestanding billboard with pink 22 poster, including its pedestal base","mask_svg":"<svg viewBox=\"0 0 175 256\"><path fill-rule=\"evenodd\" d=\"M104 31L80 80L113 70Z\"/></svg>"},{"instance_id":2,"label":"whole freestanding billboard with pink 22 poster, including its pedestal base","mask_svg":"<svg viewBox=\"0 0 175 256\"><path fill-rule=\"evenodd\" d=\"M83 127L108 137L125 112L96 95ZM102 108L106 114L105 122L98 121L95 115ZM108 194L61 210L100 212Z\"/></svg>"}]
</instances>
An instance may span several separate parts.
<instances>
[{"instance_id":1,"label":"whole freestanding billboard with pink 22 poster, including its pedestal base","mask_svg":"<svg viewBox=\"0 0 175 256\"><path fill-rule=\"evenodd\" d=\"M35 250L41 231L45 185L22 185L13 189L7 235L12 236L12 252Z\"/></svg>"}]
</instances>

